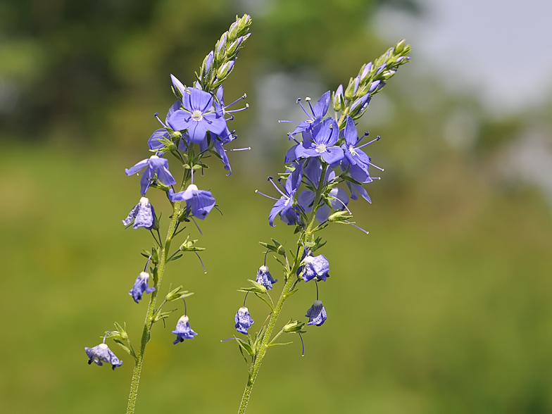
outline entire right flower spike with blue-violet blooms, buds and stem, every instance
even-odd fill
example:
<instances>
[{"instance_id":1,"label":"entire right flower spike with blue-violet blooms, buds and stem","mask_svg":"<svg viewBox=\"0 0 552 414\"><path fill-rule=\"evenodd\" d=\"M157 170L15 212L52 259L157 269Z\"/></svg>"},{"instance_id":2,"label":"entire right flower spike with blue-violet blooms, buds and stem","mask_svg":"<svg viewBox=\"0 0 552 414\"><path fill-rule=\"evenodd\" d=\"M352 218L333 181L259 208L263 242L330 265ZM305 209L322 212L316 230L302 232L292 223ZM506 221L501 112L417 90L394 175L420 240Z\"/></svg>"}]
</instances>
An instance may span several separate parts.
<instances>
[{"instance_id":1,"label":"entire right flower spike with blue-violet blooms, buds and stem","mask_svg":"<svg viewBox=\"0 0 552 414\"><path fill-rule=\"evenodd\" d=\"M231 339L237 341L249 367L249 379L239 414L246 411L253 384L268 349L291 343L278 342L280 335L299 335L304 355L301 334L307 332L309 325L320 327L327 320L326 308L320 300L319 284L329 281L330 260L318 254L325 244L318 234L334 223L351 225L368 233L352 221L349 204L351 200L358 200L359 196L368 203L372 202L365 184L379 180L379 177L372 176L372 172L383 169L372 164L366 151L368 145L380 137L368 140L368 132L358 134L355 121L368 110L372 96L380 92L397 68L408 62L409 52L410 46L401 40L374 63L363 65L358 75L351 77L346 88L339 85L335 92L326 92L314 105L310 98L304 104L301 99L297 100L306 113L306 120L299 122L288 134L293 145L284 156L285 172L279 174L277 180L268 177L274 187L269 186L268 191L275 196L258 193L272 199L268 224L274 226L275 220L280 218L284 224L291 226L298 237L296 247L289 251L275 239L270 243L261 242L266 252L256 280L249 280L250 286L239 289L245 293L245 299L235 315L237 332ZM282 267L283 280L280 283L272 277L266 265L268 253L275 253L275 260ZM302 282L316 285L316 299L312 304L305 304L308 320L290 320L273 334L284 303L299 290ZM280 298L274 301L270 291L278 286L282 289ZM268 316L249 313L246 308L249 294L268 305ZM251 332L253 326L258 325L253 325L253 316L257 321L264 321L254 333Z\"/></svg>"}]
</instances>

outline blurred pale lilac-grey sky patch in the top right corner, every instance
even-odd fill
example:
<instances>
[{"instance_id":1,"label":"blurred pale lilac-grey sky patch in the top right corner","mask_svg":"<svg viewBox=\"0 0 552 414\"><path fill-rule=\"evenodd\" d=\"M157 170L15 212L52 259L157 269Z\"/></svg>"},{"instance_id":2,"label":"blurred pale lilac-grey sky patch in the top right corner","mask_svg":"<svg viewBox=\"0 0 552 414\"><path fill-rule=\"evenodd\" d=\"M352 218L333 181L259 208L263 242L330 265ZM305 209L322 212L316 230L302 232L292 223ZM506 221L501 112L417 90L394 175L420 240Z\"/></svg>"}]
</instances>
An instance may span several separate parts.
<instances>
[{"instance_id":1,"label":"blurred pale lilac-grey sky patch in the top right corner","mask_svg":"<svg viewBox=\"0 0 552 414\"><path fill-rule=\"evenodd\" d=\"M422 18L384 10L370 22L390 42L405 37L423 61L415 66L494 113L550 101L552 0L418 1Z\"/></svg>"}]
</instances>

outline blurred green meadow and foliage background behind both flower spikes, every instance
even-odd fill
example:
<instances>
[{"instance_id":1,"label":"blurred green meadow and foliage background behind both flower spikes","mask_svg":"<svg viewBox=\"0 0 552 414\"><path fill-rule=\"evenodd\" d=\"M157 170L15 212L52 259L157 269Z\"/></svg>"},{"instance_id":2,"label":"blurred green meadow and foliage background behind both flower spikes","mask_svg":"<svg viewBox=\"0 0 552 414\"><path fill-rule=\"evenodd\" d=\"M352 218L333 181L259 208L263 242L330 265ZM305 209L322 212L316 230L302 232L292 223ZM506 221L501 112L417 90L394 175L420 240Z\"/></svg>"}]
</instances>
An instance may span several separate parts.
<instances>
[{"instance_id":1,"label":"blurred green meadow and foliage background behind both flower spikes","mask_svg":"<svg viewBox=\"0 0 552 414\"><path fill-rule=\"evenodd\" d=\"M232 127L252 149L230 154L232 176L213 160L198 180L224 213L201 223L208 273L185 257L161 289L196 292L199 335L171 344L182 306L153 328L137 404L237 410L246 365L220 343L234 334L237 289L262 264L258 241L294 243L253 192L270 192L265 177L282 169L289 124L276 121L301 119L297 97L317 99L391 46L370 24L382 6L424 18L407 0L0 3L2 412L124 412L131 358L110 344L125 361L111 372L84 354L114 321L137 344L144 320L146 303L127 291L152 240L120 223L139 196L123 169L146 158L152 114L174 101L168 74L192 82L234 15L251 13L225 92L248 94ZM248 412L552 412L552 106L490 115L428 75L416 50L359 126L382 136L370 155L386 169L368 187L373 203L351 205L370 234L325 231L328 320L309 328L304 358L295 337L270 349ZM148 195L166 218L163 197ZM303 285L280 322L301 318L314 295ZM261 325L266 306L248 307Z\"/></svg>"}]
</instances>

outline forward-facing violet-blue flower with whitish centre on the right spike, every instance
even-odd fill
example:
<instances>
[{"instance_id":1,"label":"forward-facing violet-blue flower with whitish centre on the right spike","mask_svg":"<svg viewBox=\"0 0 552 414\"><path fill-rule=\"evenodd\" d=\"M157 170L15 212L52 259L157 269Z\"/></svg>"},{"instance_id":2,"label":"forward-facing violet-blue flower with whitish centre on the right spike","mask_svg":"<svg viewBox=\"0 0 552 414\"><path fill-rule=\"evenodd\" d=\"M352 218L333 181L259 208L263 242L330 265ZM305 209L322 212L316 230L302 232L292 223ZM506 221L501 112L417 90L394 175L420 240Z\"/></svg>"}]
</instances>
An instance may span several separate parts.
<instances>
[{"instance_id":1,"label":"forward-facing violet-blue flower with whitish centre on the right spike","mask_svg":"<svg viewBox=\"0 0 552 414\"><path fill-rule=\"evenodd\" d=\"M327 118L313 128L313 139L303 141L296 146L296 158L322 157L328 164L338 163L343 159L343 150L336 146L339 139L339 127L332 118Z\"/></svg>"}]
</instances>

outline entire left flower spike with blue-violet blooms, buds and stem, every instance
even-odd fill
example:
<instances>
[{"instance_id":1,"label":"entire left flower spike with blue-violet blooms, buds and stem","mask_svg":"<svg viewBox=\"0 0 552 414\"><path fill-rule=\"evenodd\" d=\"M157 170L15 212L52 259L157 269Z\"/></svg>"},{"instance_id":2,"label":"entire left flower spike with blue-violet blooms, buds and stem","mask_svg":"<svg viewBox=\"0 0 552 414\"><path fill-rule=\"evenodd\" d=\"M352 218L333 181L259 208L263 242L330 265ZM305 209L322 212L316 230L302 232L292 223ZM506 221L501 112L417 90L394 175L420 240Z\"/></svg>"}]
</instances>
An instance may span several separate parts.
<instances>
[{"instance_id":1,"label":"entire left flower spike with blue-violet blooms, buds and stem","mask_svg":"<svg viewBox=\"0 0 552 414\"><path fill-rule=\"evenodd\" d=\"M249 15L237 18L232 23L230 29L215 44L215 49L203 60L199 73L196 73L190 86L187 87L177 77L170 75L172 92L177 100L168 109L164 122L159 118L158 113L155 114L161 127L155 130L147 140L149 156L125 170L129 176L139 175L140 180L139 196L137 191L138 202L130 209L127 218L123 220L123 225L127 228L132 226L136 230L142 227L151 233L154 243L151 249L144 249L142 252L145 262L144 269L130 269L127 275L130 287L130 298L127 299L129 303L133 301L141 306L144 297L149 299L146 306L144 329L139 343L133 345L125 327L115 322L115 330L106 332L101 344L93 348L87 347L85 351L89 358L89 364L92 362L96 365L110 363L115 370L123 364L123 360L115 356L115 353L106 344L106 339L113 339L132 357L134 370L127 413L134 413L144 353L151 337L152 327L161 320L165 323L165 319L172 316L172 311L163 312L165 303L184 300L184 315L173 322L175 330L172 331L172 334L176 335L176 339L171 337L170 340L167 340L168 343L172 341L177 345L185 339L193 339L196 335L196 332L190 327L184 299L192 295L191 292L185 291L182 286L179 286L169 291L158 306L156 306L157 297L161 291L161 282L168 263L176 261L187 252L194 253L199 258L199 252L204 250L196 246L197 240L190 239L189 235L184 241L178 242L176 249L171 249L184 230L186 223L194 222L197 227L196 220L206 219L212 209L216 208L213 194L205 189L200 189L198 180L194 180L198 177L196 172L203 172L203 169L208 168L204 158L208 154L214 154L224 163L228 175L232 173L226 153L238 149L227 149L228 144L236 138L235 132L230 130L228 121L234 118L232 113L242 111L247 106L234 110L230 109L230 106L246 96L244 95L231 105L226 106L222 84L232 73L238 52L249 38L250 25L251 17ZM144 139L144 144L146 144L146 139ZM201 175L199 176L201 177ZM134 182L133 185L137 184ZM163 222L168 221L166 224L167 235L164 240L161 237L161 225L163 224L161 217L156 215L153 205L147 198L151 191L164 192L172 210L172 214L163 220ZM144 230L139 231L144 232ZM201 258L199 258L199 262L203 266ZM196 265L196 267L198 266ZM179 273L182 274L182 272ZM135 280L134 277L136 277ZM134 284L132 284L133 281Z\"/></svg>"}]
</instances>

